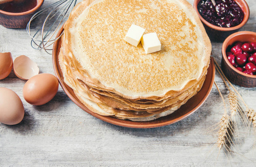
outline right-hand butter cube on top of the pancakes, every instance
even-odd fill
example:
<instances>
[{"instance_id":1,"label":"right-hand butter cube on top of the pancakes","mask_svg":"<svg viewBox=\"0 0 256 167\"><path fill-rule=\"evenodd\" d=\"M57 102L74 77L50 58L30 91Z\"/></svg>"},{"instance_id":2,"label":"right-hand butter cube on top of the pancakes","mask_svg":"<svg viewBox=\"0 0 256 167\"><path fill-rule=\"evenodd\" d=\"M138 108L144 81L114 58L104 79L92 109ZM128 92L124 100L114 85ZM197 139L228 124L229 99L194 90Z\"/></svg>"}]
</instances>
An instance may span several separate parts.
<instances>
[{"instance_id":1,"label":"right-hand butter cube on top of the pancakes","mask_svg":"<svg viewBox=\"0 0 256 167\"><path fill-rule=\"evenodd\" d=\"M146 54L161 50L161 43L158 39L157 33L155 32L143 35L141 38L141 44Z\"/></svg>"}]
</instances>

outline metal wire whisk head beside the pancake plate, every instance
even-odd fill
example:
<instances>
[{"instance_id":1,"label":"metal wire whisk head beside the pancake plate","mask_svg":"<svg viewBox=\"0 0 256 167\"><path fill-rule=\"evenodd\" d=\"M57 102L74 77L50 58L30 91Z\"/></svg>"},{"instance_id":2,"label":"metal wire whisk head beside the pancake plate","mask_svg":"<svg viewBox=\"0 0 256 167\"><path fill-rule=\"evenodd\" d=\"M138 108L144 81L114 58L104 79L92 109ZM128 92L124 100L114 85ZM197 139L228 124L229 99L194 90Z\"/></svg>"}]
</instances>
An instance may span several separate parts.
<instances>
[{"instance_id":1,"label":"metal wire whisk head beside the pancake plate","mask_svg":"<svg viewBox=\"0 0 256 167\"><path fill-rule=\"evenodd\" d=\"M76 3L77 0L60 0L35 13L34 16L31 17L29 23L27 23L27 33L29 33L29 36L31 37L31 46L37 50L43 49L51 54L53 43L62 35L61 34L59 37L55 38L62 26L61 23L65 21L65 18L67 18L65 16L69 15L69 12L73 9ZM48 15L45 17L44 23L40 23L42 26L39 28L31 28L31 22L36 17L42 16L44 13L48 13ZM40 20L42 21L41 18ZM34 31L33 35L32 31Z\"/></svg>"}]
</instances>

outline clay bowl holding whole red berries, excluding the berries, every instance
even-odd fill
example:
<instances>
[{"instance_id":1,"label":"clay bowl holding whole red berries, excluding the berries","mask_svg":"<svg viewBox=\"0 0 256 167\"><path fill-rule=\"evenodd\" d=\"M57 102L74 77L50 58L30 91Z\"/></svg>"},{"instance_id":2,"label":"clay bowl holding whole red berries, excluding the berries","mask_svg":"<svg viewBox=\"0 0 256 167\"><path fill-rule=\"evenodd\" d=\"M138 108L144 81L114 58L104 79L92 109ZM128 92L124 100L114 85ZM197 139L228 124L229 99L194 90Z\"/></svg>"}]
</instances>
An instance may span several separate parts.
<instances>
[{"instance_id":1,"label":"clay bowl holding whole red berries, excluding the berries","mask_svg":"<svg viewBox=\"0 0 256 167\"><path fill-rule=\"evenodd\" d=\"M222 45L222 60L221 68L225 76L235 85L243 87L256 87L256 75L248 75L231 65L227 60L226 50L230 48L235 42L256 42L256 32L240 31L233 33L223 42Z\"/></svg>"}]
</instances>

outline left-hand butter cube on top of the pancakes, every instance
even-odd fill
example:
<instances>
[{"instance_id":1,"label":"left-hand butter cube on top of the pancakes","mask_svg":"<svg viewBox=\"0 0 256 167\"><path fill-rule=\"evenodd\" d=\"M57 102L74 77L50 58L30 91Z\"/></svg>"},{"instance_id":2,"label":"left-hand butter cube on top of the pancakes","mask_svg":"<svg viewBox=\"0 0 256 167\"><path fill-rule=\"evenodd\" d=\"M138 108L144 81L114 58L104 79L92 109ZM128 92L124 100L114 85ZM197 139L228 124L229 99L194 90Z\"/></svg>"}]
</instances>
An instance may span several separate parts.
<instances>
[{"instance_id":1,"label":"left-hand butter cube on top of the pancakes","mask_svg":"<svg viewBox=\"0 0 256 167\"><path fill-rule=\"evenodd\" d=\"M130 43L133 46L138 46L144 32L145 32L144 28L131 24L131 27L129 28L125 36L125 41Z\"/></svg>"}]
</instances>

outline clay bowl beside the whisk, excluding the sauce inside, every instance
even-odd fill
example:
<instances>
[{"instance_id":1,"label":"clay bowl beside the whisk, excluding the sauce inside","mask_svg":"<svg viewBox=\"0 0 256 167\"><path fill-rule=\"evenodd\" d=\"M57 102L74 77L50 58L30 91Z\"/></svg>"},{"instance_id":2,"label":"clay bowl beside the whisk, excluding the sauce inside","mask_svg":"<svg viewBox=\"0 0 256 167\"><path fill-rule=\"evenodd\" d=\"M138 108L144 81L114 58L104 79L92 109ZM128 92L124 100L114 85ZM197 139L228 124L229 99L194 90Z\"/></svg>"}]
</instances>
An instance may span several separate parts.
<instances>
[{"instance_id":1,"label":"clay bowl beside the whisk, excluding the sauce inside","mask_svg":"<svg viewBox=\"0 0 256 167\"><path fill-rule=\"evenodd\" d=\"M42 6L42 3L44 3L44 0L37 0L35 8L21 13L11 13L0 10L0 24L6 28L26 28L30 18Z\"/></svg>"}]
</instances>

